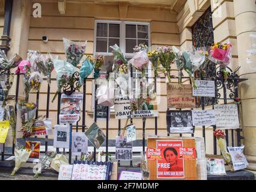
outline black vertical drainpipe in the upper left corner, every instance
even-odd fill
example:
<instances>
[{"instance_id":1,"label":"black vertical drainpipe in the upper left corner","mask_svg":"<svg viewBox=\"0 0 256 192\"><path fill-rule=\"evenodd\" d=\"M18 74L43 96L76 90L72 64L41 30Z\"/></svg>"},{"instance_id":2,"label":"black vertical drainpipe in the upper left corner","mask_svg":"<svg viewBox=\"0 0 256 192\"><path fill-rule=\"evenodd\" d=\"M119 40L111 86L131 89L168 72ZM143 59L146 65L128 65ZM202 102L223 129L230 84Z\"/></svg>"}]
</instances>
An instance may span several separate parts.
<instances>
[{"instance_id":1,"label":"black vertical drainpipe in the upper left corner","mask_svg":"<svg viewBox=\"0 0 256 192\"><path fill-rule=\"evenodd\" d=\"M0 45L0 49L4 50L5 53L10 50L10 28L11 28L11 13L13 10L13 0L5 0L5 8L4 8L4 32L2 34L1 40L2 44Z\"/></svg>"}]
</instances>

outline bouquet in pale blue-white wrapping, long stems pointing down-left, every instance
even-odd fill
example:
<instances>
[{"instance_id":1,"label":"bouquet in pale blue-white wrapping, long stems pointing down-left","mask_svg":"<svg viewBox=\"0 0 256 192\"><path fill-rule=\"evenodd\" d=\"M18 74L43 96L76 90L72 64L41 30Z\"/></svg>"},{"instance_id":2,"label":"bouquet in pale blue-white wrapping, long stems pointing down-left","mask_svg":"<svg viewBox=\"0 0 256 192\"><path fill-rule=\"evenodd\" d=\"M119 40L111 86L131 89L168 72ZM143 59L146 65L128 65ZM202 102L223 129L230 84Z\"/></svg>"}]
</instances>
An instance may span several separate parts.
<instances>
[{"instance_id":1,"label":"bouquet in pale blue-white wrapping, long stems pointing down-left","mask_svg":"<svg viewBox=\"0 0 256 192\"><path fill-rule=\"evenodd\" d=\"M58 93L61 92L61 88L67 82L69 82L69 80L72 78L73 74L76 71L76 67L74 67L72 64L70 64L67 61L53 59L53 65L54 65L55 71L57 73L56 81L57 81L58 90L56 91L56 94L54 95L54 97L52 99L52 103L55 100Z\"/></svg>"}]
</instances>

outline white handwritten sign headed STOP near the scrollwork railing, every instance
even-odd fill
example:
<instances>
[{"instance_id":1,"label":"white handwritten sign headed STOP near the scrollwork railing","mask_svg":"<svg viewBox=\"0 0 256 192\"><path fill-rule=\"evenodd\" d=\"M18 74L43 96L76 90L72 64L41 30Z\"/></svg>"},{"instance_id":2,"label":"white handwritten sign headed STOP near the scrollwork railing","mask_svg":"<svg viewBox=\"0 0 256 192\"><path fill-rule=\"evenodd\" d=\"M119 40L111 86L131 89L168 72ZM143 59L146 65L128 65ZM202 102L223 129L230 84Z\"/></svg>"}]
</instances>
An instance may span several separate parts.
<instances>
[{"instance_id":1,"label":"white handwritten sign headed STOP near the scrollwork railing","mask_svg":"<svg viewBox=\"0 0 256 192\"><path fill-rule=\"evenodd\" d=\"M215 97L215 82L213 80L195 80L197 89L193 88L193 96Z\"/></svg>"}]
</instances>

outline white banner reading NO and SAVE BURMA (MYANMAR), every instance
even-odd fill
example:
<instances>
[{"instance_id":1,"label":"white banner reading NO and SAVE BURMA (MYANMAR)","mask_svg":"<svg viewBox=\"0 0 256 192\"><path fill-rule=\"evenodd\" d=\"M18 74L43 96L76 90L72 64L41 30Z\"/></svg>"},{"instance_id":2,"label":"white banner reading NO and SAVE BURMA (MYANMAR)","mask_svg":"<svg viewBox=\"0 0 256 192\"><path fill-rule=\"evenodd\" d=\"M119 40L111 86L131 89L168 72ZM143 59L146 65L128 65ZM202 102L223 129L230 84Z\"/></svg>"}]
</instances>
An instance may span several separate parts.
<instances>
[{"instance_id":1,"label":"white banner reading NO and SAVE BURMA (MYANMAR)","mask_svg":"<svg viewBox=\"0 0 256 192\"><path fill-rule=\"evenodd\" d=\"M115 119L153 118L158 116L157 110L135 110L130 107L129 97L115 98Z\"/></svg>"}]
</instances>

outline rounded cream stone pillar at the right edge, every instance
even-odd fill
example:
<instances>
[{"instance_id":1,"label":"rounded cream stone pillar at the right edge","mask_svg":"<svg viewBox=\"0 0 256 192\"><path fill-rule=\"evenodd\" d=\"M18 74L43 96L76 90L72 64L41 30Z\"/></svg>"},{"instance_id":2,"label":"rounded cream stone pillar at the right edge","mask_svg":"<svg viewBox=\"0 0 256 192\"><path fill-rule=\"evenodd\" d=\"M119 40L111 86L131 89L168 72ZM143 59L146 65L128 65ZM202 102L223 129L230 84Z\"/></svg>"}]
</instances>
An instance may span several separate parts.
<instances>
[{"instance_id":1,"label":"rounded cream stone pillar at the right edge","mask_svg":"<svg viewBox=\"0 0 256 192\"><path fill-rule=\"evenodd\" d=\"M243 135L248 169L256 170L256 6L255 0L234 0L241 83Z\"/></svg>"}]
</instances>

